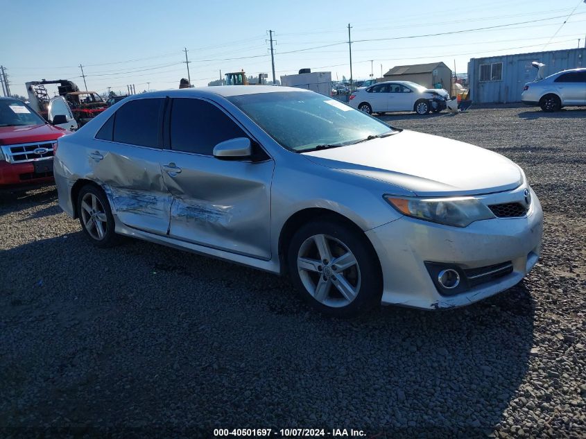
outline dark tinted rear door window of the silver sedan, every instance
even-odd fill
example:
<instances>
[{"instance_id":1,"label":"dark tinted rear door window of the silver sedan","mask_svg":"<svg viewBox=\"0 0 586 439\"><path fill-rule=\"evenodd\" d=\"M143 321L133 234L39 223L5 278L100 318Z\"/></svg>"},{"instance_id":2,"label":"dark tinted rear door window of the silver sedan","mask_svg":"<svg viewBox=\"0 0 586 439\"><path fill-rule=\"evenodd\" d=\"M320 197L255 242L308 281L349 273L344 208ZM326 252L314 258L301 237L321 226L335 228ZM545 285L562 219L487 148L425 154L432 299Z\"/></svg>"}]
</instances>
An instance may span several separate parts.
<instances>
[{"instance_id":1,"label":"dark tinted rear door window of the silver sedan","mask_svg":"<svg viewBox=\"0 0 586 439\"><path fill-rule=\"evenodd\" d=\"M137 99L122 105L114 115L113 140L121 144L158 148L164 101L163 98Z\"/></svg>"}]
</instances>

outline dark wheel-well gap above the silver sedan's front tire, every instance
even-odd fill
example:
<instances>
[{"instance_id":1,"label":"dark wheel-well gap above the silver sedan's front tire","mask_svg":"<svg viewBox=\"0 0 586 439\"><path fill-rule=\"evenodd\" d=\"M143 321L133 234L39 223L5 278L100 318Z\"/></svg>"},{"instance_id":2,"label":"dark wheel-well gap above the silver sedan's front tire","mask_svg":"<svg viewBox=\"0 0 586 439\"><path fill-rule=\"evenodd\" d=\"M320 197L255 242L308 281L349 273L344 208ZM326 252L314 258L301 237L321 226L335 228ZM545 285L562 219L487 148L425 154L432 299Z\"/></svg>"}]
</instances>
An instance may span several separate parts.
<instances>
[{"instance_id":1,"label":"dark wheel-well gap above the silver sedan's front tire","mask_svg":"<svg viewBox=\"0 0 586 439\"><path fill-rule=\"evenodd\" d=\"M297 232L297 230L299 230L299 228L302 227L302 225L307 224L310 221L318 221L324 219L344 223L345 225L354 229L354 231L357 234L361 234L361 236L364 237L365 241L368 242L370 250L372 250L373 255L377 257L377 261L379 261L380 264L377 252L376 250L374 250L374 246L372 246L370 239L368 238L368 236L366 236L366 234L358 224L356 224L347 216L344 216L343 214L340 214L333 210L325 209L324 207L308 207L306 209L302 209L298 212L295 212L295 214L289 216L289 218L287 219L287 221L285 221L283 227L281 228L281 232L279 234L278 249L279 265L282 275L286 274L287 272L287 250L289 243L293 238L293 234L295 234L295 232Z\"/></svg>"}]
</instances>

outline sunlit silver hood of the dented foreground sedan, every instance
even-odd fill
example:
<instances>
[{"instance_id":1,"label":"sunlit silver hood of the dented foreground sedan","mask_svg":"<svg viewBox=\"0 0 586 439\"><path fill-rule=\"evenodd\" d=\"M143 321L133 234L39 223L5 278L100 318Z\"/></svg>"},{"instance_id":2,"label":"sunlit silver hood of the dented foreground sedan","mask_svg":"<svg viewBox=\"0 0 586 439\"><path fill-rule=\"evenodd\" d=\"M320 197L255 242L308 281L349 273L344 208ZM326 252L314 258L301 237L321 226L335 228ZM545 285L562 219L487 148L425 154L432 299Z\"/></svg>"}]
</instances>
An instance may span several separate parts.
<instances>
[{"instance_id":1,"label":"sunlit silver hood of the dented foreground sedan","mask_svg":"<svg viewBox=\"0 0 586 439\"><path fill-rule=\"evenodd\" d=\"M523 182L519 166L500 154L407 130L303 155L313 163L388 182L417 196L508 191Z\"/></svg>"}]
</instances>

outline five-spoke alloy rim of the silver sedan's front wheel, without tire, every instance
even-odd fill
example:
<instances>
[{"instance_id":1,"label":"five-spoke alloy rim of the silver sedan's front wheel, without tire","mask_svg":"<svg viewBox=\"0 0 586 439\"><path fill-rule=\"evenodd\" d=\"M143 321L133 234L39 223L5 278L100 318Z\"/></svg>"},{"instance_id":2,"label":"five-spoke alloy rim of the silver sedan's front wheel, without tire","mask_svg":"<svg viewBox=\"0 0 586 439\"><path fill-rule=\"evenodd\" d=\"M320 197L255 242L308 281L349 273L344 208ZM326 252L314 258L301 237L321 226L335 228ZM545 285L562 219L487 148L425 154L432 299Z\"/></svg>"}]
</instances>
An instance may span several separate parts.
<instances>
[{"instance_id":1,"label":"five-spoke alloy rim of the silver sedan's front wheel, without tire","mask_svg":"<svg viewBox=\"0 0 586 439\"><path fill-rule=\"evenodd\" d=\"M297 267L305 289L327 307L345 307L360 291L358 261L333 236L316 234L306 239L298 252Z\"/></svg>"}]
</instances>

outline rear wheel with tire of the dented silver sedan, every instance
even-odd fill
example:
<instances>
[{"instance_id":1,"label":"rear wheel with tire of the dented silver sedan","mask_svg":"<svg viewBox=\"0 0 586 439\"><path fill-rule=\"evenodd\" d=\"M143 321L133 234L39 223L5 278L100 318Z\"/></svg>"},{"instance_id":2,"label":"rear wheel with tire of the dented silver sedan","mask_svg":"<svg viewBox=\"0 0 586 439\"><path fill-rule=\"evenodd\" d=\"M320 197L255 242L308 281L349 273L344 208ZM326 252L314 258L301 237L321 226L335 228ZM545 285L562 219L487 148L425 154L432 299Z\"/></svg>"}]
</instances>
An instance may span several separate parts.
<instances>
[{"instance_id":1,"label":"rear wheel with tire of the dented silver sedan","mask_svg":"<svg viewBox=\"0 0 586 439\"><path fill-rule=\"evenodd\" d=\"M117 243L114 216L102 189L92 184L87 184L80 189L78 214L81 228L94 246L106 248Z\"/></svg>"}]
</instances>

